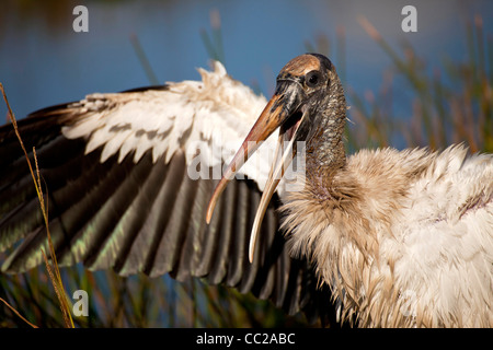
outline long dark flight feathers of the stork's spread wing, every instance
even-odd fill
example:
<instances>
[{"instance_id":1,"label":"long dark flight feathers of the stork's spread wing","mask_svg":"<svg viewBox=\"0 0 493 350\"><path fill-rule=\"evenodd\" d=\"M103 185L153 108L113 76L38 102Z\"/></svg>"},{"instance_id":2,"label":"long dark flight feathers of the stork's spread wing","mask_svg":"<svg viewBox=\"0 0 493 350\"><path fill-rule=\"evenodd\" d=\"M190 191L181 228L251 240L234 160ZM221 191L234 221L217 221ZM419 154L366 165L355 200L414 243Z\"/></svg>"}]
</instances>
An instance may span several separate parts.
<instances>
[{"instance_id":1,"label":"long dark flight feathers of the stork's spread wing","mask_svg":"<svg viewBox=\"0 0 493 350\"><path fill-rule=\"evenodd\" d=\"M170 273L179 280L199 277L271 299L290 314L303 311L310 320L330 314L330 294L317 288L312 268L288 255L276 201L264 219L262 254L254 264L248 261L248 233L261 197L252 180L228 186L207 225L215 183L185 176L182 152L168 164L153 162L150 152L138 163L131 155L101 163L102 148L84 154L84 139L61 135L76 115L69 105L37 110L19 122L26 147L36 147L50 233L62 265L82 261L91 269ZM25 159L7 128L11 126L0 128L0 138L9 140L0 147L5 155L0 156L0 245L4 249L24 237L3 266L13 272L41 264L46 233Z\"/></svg>"}]
</instances>

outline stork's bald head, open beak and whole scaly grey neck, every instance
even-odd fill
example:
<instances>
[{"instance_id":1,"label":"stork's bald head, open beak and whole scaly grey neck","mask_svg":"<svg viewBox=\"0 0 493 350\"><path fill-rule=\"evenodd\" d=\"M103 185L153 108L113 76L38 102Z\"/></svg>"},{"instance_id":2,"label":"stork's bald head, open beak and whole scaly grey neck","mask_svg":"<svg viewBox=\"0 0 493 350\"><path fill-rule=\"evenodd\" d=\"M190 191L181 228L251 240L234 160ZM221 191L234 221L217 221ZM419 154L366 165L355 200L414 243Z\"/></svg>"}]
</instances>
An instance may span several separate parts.
<instances>
[{"instance_id":1,"label":"stork's bald head, open beak and whole scaly grey neck","mask_svg":"<svg viewBox=\"0 0 493 350\"><path fill-rule=\"evenodd\" d=\"M240 150L226 170L210 199L207 222L217 198L228 180L248 158L277 128L279 143L290 141L293 151L283 156L284 168L296 154L296 142L306 142L307 177L325 178L345 163L342 135L346 102L335 67L324 56L306 54L290 60L277 75L276 91L250 130ZM280 148L282 149L282 148ZM282 164L279 164L282 165ZM280 177L280 166L274 163L255 217L250 242L250 260L263 214ZM274 172L274 168L277 171Z\"/></svg>"}]
</instances>

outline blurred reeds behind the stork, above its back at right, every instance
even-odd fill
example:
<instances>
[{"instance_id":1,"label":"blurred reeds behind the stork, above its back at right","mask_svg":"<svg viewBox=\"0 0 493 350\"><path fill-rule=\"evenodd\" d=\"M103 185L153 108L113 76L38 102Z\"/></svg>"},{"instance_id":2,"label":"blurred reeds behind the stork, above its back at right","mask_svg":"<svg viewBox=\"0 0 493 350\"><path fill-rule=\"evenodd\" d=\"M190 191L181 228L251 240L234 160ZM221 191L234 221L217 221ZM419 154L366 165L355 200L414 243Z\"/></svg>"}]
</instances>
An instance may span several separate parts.
<instances>
[{"instance_id":1,"label":"blurred reeds behind the stork, above its back at right","mask_svg":"<svg viewBox=\"0 0 493 350\"><path fill-rule=\"evenodd\" d=\"M440 150L463 142L471 152L493 152L493 46L484 37L481 15L466 28L468 60L446 59L433 74L409 43L403 43L400 54L365 18L359 23L391 58L392 69L377 95L348 94L354 121L347 128L351 149L386 147L397 139L410 148ZM404 81L414 96L410 115L392 114L394 79Z\"/></svg>"}]
</instances>

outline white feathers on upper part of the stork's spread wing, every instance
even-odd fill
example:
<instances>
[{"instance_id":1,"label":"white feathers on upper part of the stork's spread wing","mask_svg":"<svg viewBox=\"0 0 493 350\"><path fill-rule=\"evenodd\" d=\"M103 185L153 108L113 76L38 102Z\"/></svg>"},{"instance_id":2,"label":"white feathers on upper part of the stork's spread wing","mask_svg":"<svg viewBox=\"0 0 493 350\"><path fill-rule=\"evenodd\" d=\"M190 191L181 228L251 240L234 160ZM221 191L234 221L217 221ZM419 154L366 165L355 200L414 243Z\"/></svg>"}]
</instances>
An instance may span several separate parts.
<instances>
[{"instance_id":1,"label":"white feathers on upper part of the stork's spread wing","mask_svg":"<svg viewBox=\"0 0 493 350\"><path fill-rule=\"evenodd\" d=\"M230 162L266 100L231 79L218 61L214 71L198 71L202 81L168 82L167 90L88 95L68 106L85 115L64 127L64 136L87 138L85 153L103 147L101 162L114 154L122 162L129 153L138 162L150 151L154 162L164 154L168 163L180 149L193 166L190 175L207 176L194 173L195 166L213 168ZM238 177L255 179L262 189L274 151L275 140L270 138Z\"/></svg>"}]
</instances>

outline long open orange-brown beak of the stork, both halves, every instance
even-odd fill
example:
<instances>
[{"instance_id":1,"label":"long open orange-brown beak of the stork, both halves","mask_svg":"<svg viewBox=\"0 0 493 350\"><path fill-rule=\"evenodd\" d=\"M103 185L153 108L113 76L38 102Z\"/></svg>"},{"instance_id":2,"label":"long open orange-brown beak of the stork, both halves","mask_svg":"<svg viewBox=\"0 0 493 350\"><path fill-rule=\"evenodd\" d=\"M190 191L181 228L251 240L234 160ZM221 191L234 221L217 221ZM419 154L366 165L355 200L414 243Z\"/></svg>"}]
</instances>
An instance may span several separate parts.
<instances>
[{"instance_id":1,"label":"long open orange-brown beak of the stork, both halves","mask_svg":"<svg viewBox=\"0 0 493 350\"><path fill-rule=\"evenodd\" d=\"M296 132L303 119L303 115L299 109L299 89L298 84L289 81L278 81L276 93L265 106L255 125L244 139L241 148L232 159L222 178L217 185L207 208L207 223L210 222L217 199L225 190L228 182L233 178L234 174L248 161L261 142L266 140L277 128L279 128L279 138L276 147L274 162L271 166L268 178L262 194L255 220L253 222L252 233L250 235L249 259L253 261L253 253L255 249L256 238L260 232L262 219L264 218L268 202L274 195L277 185L280 182L285 171L291 163L295 152L293 152L293 143ZM284 150L285 142L287 143ZM280 152L280 156L279 156Z\"/></svg>"}]
</instances>

